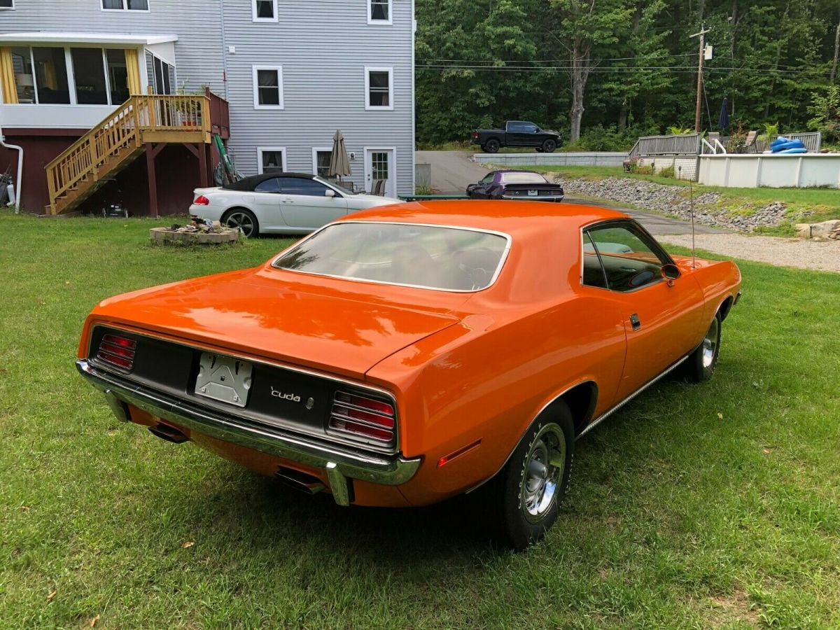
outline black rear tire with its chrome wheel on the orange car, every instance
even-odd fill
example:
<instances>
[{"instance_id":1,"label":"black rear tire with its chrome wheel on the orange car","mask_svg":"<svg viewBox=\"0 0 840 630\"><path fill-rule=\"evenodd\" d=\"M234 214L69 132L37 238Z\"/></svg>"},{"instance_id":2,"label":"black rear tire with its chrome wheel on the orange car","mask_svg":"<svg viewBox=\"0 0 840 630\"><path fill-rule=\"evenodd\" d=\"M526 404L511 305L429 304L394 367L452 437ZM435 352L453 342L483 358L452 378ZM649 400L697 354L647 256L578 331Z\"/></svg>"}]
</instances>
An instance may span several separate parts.
<instances>
[{"instance_id":1,"label":"black rear tire with its chrome wheel on the orange car","mask_svg":"<svg viewBox=\"0 0 840 630\"><path fill-rule=\"evenodd\" d=\"M523 551L543 538L569 488L574 451L571 413L559 401L534 420L504 468L477 491L499 543ZM541 458L549 462L543 476L529 466L538 468Z\"/></svg>"}]
</instances>

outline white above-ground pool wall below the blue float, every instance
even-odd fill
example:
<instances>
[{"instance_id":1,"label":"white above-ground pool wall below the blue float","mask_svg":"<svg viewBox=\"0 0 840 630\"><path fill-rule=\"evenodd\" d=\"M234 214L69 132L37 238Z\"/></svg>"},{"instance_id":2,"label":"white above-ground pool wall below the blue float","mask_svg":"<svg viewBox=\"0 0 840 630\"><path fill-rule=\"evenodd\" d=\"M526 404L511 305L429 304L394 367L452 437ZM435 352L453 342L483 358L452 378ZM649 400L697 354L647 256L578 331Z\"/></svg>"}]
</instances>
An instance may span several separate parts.
<instances>
[{"instance_id":1,"label":"white above-ground pool wall below the blue float","mask_svg":"<svg viewBox=\"0 0 840 630\"><path fill-rule=\"evenodd\" d=\"M840 153L702 155L699 181L740 188L840 188Z\"/></svg>"}]
</instances>

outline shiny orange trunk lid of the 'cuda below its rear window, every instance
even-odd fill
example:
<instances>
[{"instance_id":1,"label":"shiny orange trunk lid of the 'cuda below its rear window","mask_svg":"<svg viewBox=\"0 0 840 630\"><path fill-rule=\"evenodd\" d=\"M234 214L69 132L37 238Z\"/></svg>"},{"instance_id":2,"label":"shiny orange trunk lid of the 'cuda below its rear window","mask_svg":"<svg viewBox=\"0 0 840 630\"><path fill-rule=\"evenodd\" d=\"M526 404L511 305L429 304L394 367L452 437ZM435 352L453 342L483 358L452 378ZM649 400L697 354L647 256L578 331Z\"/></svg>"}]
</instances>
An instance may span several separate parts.
<instances>
[{"instance_id":1,"label":"shiny orange trunk lid of the 'cuda below its rear window","mask_svg":"<svg viewBox=\"0 0 840 630\"><path fill-rule=\"evenodd\" d=\"M115 297L102 302L93 318L197 341L221 353L228 349L354 378L459 321L253 271Z\"/></svg>"}]
</instances>

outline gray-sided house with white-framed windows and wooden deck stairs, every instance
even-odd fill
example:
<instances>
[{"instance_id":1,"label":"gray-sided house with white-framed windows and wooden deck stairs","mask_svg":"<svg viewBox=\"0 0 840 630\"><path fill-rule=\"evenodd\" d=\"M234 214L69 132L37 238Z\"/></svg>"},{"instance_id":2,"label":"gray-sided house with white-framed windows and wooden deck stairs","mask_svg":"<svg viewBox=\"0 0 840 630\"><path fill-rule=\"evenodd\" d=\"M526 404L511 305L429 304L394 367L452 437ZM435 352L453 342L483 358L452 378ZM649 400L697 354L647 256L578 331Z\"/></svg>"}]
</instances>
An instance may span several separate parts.
<instances>
[{"instance_id":1,"label":"gray-sided house with white-framed windows and wooden deck stairs","mask_svg":"<svg viewBox=\"0 0 840 630\"><path fill-rule=\"evenodd\" d=\"M0 171L19 147L30 209L182 213L212 134L246 175L325 174L341 129L357 188L411 193L413 50L413 0L0 0Z\"/></svg>"}]
</instances>

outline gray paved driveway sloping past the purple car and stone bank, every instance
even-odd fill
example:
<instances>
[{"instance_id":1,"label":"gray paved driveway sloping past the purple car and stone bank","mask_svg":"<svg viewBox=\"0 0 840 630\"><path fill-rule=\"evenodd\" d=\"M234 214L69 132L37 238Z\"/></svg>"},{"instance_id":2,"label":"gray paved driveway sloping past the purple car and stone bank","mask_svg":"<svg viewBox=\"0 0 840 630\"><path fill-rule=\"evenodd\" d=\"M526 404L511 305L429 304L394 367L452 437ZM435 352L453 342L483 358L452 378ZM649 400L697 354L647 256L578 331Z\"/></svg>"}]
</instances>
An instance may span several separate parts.
<instances>
[{"instance_id":1,"label":"gray paved driveway sloping past the purple car and stone bank","mask_svg":"<svg viewBox=\"0 0 840 630\"><path fill-rule=\"evenodd\" d=\"M465 151L417 151L417 163L432 165L432 187L441 194L464 194L468 184L474 184L486 176L487 169L470 160L473 154ZM593 168L597 168L593 166ZM566 197L564 203L586 203L593 206L608 207L619 210L635 218L651 234L691 234L690 223L675 218L663 217L654 213L643 213L638 210L628 210L620 206L596 203L585 199ZM722 229L696 225L697 234L726 234Z\"/></svg>"}]
</instances>

